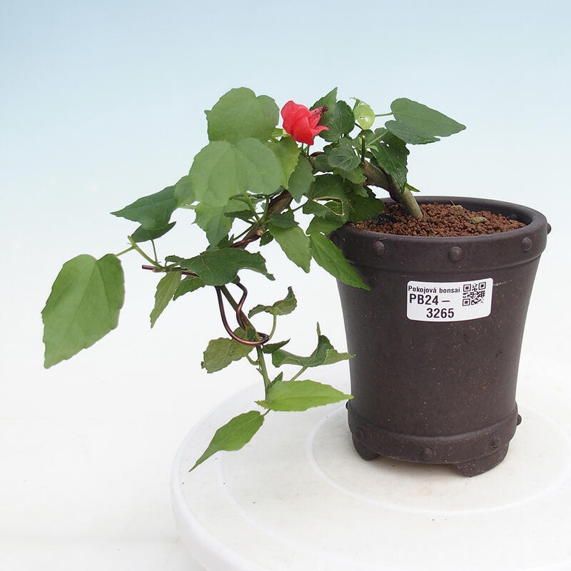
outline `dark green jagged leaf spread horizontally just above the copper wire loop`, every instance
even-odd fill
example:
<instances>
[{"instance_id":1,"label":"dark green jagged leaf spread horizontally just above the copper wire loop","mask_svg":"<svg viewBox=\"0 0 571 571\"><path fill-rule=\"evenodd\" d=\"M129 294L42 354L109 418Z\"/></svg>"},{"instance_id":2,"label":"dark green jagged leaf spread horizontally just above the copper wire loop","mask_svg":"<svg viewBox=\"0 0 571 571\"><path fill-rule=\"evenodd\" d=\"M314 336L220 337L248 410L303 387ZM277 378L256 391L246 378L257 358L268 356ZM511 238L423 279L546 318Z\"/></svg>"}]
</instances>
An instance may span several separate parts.
<instances>
[{"instance_id":1,"label":"dark green jagged leaf spread horizontally just above the copper wire loop","mask_svg":"<svg viewBox=\"0 0 571 571\"><path fill-rule=\"evenodd\" d=\"M206 285L231 283L242 269L262 273L269 280L273 280L273 276L266 270L266 261L261 254L241 248L206 251L194 258L179 260L178 263L181 268L196 273Z\"/></svg>"}]
</instances>

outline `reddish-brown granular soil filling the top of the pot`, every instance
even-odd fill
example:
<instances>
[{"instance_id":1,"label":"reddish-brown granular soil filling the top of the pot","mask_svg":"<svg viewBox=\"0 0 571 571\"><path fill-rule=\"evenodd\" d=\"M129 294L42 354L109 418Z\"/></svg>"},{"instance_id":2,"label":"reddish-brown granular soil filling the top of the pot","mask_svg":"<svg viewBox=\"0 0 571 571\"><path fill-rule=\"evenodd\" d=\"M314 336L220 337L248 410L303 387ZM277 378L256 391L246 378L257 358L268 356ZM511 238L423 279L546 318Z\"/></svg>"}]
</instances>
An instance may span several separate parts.
<instances>
[{"instance_id":1,"label":"reddish-brown granular soil filling the top of the pot","mask_svg":"<svg viewBox=\"0 0 571 571\"><path fill-rule=\"evenodd\" d=\"M357 228L401 236L479 236L522 228L524 223L488 211L470 211L458 204L421 204L424 218L405 214L391 204L377 220L355 223Z\"/></svg>"}]
</instances>

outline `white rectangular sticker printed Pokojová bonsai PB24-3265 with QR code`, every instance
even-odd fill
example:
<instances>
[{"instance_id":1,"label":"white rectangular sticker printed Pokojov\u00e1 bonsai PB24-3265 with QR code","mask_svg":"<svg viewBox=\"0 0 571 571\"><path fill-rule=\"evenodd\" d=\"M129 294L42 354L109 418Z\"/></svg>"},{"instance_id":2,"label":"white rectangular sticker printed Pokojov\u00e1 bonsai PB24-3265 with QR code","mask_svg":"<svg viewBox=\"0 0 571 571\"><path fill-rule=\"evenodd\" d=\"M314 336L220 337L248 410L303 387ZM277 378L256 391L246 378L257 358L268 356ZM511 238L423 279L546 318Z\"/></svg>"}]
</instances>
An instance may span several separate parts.
<instances>
[{"instance_id":1,"label":"white rectangular sticker printed Pokojov\u00e1 bonsai PB24-3265 with QR code","mask_svg":"<svg viewBox=\"0 0 571 571\"><path fill-rule=\"evenodd\" d=\"M468 321L490 315L494 281L409 281L406 316L414 321Z\"/></svg>"}]
</instances>

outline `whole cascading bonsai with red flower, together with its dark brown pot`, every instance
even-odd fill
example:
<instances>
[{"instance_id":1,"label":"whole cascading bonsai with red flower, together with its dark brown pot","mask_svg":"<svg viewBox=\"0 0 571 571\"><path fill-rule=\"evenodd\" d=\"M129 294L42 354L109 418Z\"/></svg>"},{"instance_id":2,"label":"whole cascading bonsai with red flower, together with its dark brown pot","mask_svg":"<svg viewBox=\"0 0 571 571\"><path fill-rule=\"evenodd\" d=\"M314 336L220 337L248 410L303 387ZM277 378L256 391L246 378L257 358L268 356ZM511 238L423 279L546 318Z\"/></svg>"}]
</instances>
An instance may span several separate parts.
<instances>
[{"instance_id":1,"label":"whole cascading bonsai with red flower, together with its dark brown pot","mask_svg":"<svg viewBox=\"0 0 571 571\"><path fill-rule=\"evenodd\" d=\"M516 318L513 346L497 349L498 355L505 355L497 356L497 362L509 361L512 365L507 375L509 387L498 388L491 379L492 373L503 375L507 364L502 364L497 373L488 354L475 359L485 364L482 370L486 376L479 386L465 381L473 371L453 363L456 359L465 362L466 347L475 351L485 345L482 338L492 336L490 328L495 331L495 338L505 335L510 325L500 325L489 317L490 313L484 313L502 307L498 295L504 295L505 288L499 281L515 283L517 277L509 271L508 276L496 274L496 266L522 266L520 258L515 262L503 259L504 246L508 244L508 250L525 253L526 264L537 266L545 246L545 218L535 211L518 210L519 207L504 203L490 203L489 208L483 208L483 202L440 199L440 203L453 203L456 218L468 216L480 230L489 226L492 216L520 218L515 226L522 228L490 235L496 239L492 250L502 258L501 263L492 262L491 268L485 265L487 254L480 253L488 236L415 238L397 237L383 228L380 233L372 231L373 223L390 224L403 216L393 212L393 203L407 220L428 222L422 209L425 207L421 208L414 198L416 189L407 181L407 145L433 143L465 127L406 98L393 101L390 111L377 115L363 101L357 99L350 105L338 99L336 89L312 108L293 101L285 103L281 108L281 127L279 114L272 98L256 96L246 88L228 91L206 111L209 142L193 159L189 173L175 184L113 212L138 224L128 236L128 247L101 258L76 256L61 268L42 312L44 366L70 358L116 328L124 298L119 258L135 251L144 258L143 268L161 276L151 310L151 327L172 300L211 286L216 289L217 311L226 334L208 343L203 368L214 373L236 360L246 359L263 381L262 398L256 401L255 408L217 430L192 469L218 450L242 448L271 411L306 410L352 398L348 407L350 426L355 448L363 458L387 454L405 460L453 463L467 475L491 468L505 454L517 421L513 400L519 358L517 341L521 338L532 276L523 285L515 284L505 302L510 305L517 298L524 301L523 316ZM373 128L375 119L383 116L389 117L383 126ZM317 150L312 147L316 136L323 140ZM388 191L390 206L376 196L373 187ZM473 213L473 207L492 213ZM168 252L160 257L156 241L173 230L175 222L171 216L177 209L193 211L193 222L206 233L208 247L202 252ZM363 224L365 229L358 228ZM349 353L335 350L319 325L316 344L308 354L296 355L287 350L288 341L276 336L276 325L281 315L295 309L291 287L284 290L283 298L270 303L254 305L247 299L244 271L274 279L261 253L252 251L271 241L303 271L310 271L314 261L338 280ZM404 246L398 245L401 241ZM475 241L475 245L468 241ZM441 267L443 259L448 264L445 268ZM483 268L476 267L476 262ZM435 267L430 269L433 263ZM454 271L460 271L461 276ZM484 284L483 293L477 289L479 284ZM469 290L463 297L455 290L465 285L469 285ZM433 288L446 293L436 295ZM442 295L448 296L448 301ZM461 305L457 305L463 299L477 300L475 309L462 313ZM380 312L373 313L378 308ZM432 310L430 317L427 309ZM273 325L269 332L262 333L253 325L258 313L271 315ZM502 323L506 318L502 310ZM476 325L482 323L487 328L474 333ZM408 332L405 326L411 324L413 330ZM359 333L364 336L359 337ZM438 341L440 333L445 336ZM426 342L428 338L432 344ZM461 345L462 339L463 349L450 350L451 344ZM441 362L435 356L437 346L444 349ZM379 356L383 352L388 356ZM305 376L311 368L345 359L351 359L353 395ZM290 367L295 371L288 375ZM427 368L432 377L427 375ZM408 370L408 374L403 370ZM448 373L445 375L443 370ZM447 375L448 380L444 381ZM465 390L460 394L458 385L462 384ZM368 388L373 388L375 396L365 395ZM461 401L464 399L473 407L477 393L483 395L484 404L478 405L478 413L468 415L472 417L468 428L460 429L462 434L478 433L473 438L477 450L465 444L460 453L456 441L463 437L455 419L466 416L459 408ZM494 410L490 412L485 402L500 393L507 405L498 405L497 410L492 406ZM451 400L450 394L454 395ZM420 402L430 403L433 410L428 405L420 406ZM395 403L399 403L398 407ZM381 411L380 417L368 416L375 413L373 409ZM502 416L507 409L508 413ZM436 427L433 419L438 417L448 419L445 428ZM487 421L491 422L491 429ZM405 436L399 428L402 426L412 433ZM482 447L485 460L480 458ZM495 455L490 460L492 454Z\"/></svg>"}]
</instances>

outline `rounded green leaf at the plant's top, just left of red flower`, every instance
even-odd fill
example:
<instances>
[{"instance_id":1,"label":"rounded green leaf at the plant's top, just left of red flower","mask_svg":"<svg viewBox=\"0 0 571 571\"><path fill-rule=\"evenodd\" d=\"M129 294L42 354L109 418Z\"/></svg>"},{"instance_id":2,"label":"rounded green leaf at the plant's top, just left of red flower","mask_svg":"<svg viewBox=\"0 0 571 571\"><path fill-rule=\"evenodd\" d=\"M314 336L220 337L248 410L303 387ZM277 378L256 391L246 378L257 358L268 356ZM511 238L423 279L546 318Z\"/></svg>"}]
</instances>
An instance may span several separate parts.
<instances>
[{"instance_id":1,"label":"rounded green leaf at the plant's top, just left of red flower","mask_svg":"<svg viewBox=\"0 0 571 571\"><path fill-rule=\"evenodd\" d=\"M210 141L236 143L242 138L268 141L278 124L279 108L271 97L246 87L231 89L205 111Z\"/></svg>"}]
</instances>

